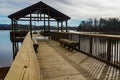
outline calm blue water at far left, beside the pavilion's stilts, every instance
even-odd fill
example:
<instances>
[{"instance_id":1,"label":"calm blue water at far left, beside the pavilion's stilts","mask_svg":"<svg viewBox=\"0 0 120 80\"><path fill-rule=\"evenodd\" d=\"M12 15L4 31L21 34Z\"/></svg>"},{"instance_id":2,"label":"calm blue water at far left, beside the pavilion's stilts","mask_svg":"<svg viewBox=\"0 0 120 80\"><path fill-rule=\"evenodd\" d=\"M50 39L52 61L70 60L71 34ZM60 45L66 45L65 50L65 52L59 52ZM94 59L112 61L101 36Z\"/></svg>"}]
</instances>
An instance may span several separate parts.
<instances>
[{"instance_id":1,"label":"calm blue water at far left, beside the pavilion's stilts","mask_svg":"<svg viewBox=\"0 0 120 80\"><path fill-rule=\"evenodd\" d=\"M0 67L10 66L12 59L12 43L9 31L0 30Z\"/></svg>"}]
</instances>

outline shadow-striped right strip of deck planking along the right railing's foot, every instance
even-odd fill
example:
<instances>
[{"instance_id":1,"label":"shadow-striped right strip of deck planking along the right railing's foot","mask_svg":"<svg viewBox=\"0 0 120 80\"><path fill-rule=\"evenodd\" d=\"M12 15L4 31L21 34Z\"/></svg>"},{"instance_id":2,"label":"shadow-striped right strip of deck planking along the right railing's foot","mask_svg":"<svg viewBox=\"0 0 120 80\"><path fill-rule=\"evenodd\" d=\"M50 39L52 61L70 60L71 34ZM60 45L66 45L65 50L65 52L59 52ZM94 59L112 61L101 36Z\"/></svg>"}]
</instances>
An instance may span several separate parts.
<instances>
[{"instance_id":1,"label":"shadow-striped right strip of deck planking along the right railing's foot","mask_svg":"<svg viewBox=\"0 0 120 80\"><path fill-rule=\"evenodd\" d=\"M88 80L120 80L120 70L78 51L68 51L58 42L47 41L66 61L73 65ZM81 80L81 79L80 79Z\"/></svg>"}]
</instances>

